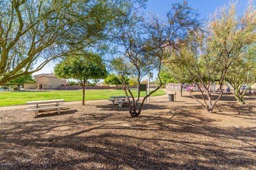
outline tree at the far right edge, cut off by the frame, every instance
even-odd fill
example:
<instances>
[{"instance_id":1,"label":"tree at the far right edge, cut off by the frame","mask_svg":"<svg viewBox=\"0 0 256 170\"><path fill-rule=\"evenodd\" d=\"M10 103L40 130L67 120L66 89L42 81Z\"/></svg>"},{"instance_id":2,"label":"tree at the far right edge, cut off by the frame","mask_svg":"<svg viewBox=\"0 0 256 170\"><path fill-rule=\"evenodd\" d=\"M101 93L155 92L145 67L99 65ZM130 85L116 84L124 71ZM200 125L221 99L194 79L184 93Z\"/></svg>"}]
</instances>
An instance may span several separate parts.
<instances>
[{"instance_id":1,"label":"tree at the far right edge, cut off by the frame","mask_svg":"<svg viewBox=\"0 0 256 170\"><path fill-rule=\"evenodd\" d=\"M242 53L237 61L230 66L226 75L227 86L240 104L245 104L244 96L256 83L256 53L255 47ZM245 86L243 88L243 86Z\"/></svg>"}]
</instances>

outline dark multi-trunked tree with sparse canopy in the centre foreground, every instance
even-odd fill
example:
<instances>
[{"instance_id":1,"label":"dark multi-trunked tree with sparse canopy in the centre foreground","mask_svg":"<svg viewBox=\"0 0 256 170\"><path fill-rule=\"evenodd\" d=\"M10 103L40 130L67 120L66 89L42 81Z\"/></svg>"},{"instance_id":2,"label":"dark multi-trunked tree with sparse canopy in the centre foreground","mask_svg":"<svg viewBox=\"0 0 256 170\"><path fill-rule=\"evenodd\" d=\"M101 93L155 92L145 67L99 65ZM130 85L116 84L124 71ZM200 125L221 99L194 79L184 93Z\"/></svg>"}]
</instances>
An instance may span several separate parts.
<instances>
[{"instance_id":1,"label":"dark multi-trunked tree with sparse canopy in the centre foreground","mask_svg":"<svg viewBox=\"0 0 256 170\"><path fill-rule=\"evenodd\" d=\"M120 33L116 39L118 45L124 50L119 51L122 57L116 58L112 65L117 74L121 76L129 104L129 113L132 117L139 116L146 98L161 88L162 81L159 73L165 56L164 49L179 47L180 42L187 36L188 28L194 27L194 14L194 10L191 10L184 2L172 6L170 12L167 13L167 21L165 22L155 16L145 21L142 17L137 18L134 14L120 24ZM123 81L124 76L136 77L138 84L140 84L142 78L153 70L157 72L159 84L143 97L139 104L140 88L138 89L138 97L135 98L129 86Z\"/></svg>"}]
</instances>

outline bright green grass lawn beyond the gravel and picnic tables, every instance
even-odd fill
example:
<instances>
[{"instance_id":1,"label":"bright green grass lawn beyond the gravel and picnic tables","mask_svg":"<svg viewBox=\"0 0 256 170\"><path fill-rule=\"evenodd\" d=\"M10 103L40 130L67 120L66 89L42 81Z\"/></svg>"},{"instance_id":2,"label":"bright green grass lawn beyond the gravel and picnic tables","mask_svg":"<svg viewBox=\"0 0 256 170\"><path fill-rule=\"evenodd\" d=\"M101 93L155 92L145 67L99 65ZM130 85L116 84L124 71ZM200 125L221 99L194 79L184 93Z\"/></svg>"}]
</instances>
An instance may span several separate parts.
<instances>
[{"instance_id":1,"label":"bright green grass lawn beyond the gravel and picnic tables","mask_svg":"<svg viewBox=\"0 0 256 170\"><path fill-rule=\"evenodd\" d=\"M132 90L137 96L137 90ZM163 90L157 90L151 96L164 95ZM85 100L108 99L110 96L123 96L124 90L85 90ZM145 92L141 92L145 96ZM54 90L54 91L6 91L0 92L0 106L25 105L27 101L64 99L65 101L82 100L82 90Z\"/></svg>"}]
</instances>

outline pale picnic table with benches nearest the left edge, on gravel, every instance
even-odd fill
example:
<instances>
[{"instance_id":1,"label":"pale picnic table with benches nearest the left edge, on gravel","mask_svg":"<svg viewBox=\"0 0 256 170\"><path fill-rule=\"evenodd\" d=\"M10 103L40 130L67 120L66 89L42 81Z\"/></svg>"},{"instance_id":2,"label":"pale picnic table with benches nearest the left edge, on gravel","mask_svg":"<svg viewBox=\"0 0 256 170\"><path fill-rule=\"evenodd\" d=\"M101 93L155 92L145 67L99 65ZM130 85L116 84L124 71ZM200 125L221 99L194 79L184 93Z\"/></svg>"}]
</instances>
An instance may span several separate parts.
<instances>
[{"instance_id":1,"label":"pale picnic table with benches nearest the left edge, on gravel","mask_svg":"<svg viewBox=\"0 0 256 170\"><path fill-rule=\"evenodd\" d=\"M58 114L60 113L61 108L65 108L67 106L60 106L64 102L64 99L56 99L56 100L38 100L38 101L27 101L26 105L33 105L29 107L33 107L30 109L27 109L26 111L34 111L35 117L38 115L39 111L46 111L46 110L52 110L57 109ZM50 107L43 107L43 106L50 106Z\"/></svg>"}]
</instances>

